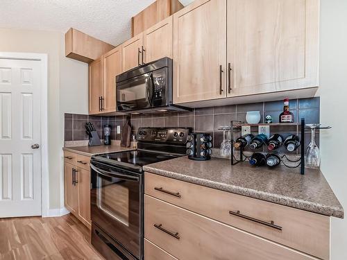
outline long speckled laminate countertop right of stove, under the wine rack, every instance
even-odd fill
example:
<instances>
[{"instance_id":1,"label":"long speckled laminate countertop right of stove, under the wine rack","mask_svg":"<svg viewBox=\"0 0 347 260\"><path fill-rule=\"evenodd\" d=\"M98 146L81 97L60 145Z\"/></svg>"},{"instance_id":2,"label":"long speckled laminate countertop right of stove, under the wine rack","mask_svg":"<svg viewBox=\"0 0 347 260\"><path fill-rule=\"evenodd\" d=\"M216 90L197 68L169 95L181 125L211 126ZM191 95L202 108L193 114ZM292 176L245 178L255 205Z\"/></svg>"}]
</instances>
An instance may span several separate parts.
<instances>
[{"instance_id":1,"label":"long speckled laminate countertop right of stove, under the wine rack","mask_svg":"<svg viewBox=\"0 0 347 260\"><path fill-rule=\"evenodd\" d=\"M144 171L177 180L344 218L344 209L321 171L305 170L301 175L299 168L255 168L247 162L231 166L229 159L198 162L187 157L144 166Z\"/></svg>"}]
</instances>

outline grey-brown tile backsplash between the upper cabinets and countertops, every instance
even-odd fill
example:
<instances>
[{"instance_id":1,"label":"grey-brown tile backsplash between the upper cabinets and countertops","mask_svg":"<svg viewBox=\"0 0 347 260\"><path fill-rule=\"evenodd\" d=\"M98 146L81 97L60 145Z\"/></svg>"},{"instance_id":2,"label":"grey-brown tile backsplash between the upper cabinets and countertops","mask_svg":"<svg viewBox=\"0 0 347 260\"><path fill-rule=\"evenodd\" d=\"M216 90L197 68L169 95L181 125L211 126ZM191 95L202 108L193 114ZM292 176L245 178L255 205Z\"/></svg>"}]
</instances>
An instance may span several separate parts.
<instances>
[{"instance_id":1,"label":"grey-brown tile backsplash between the upper cabinets and countertops","mask_svg":"<svg viewBox=\"0 0 347 260\"><path fill-rule=\"evenodd\" d=\"M278 117L283 110L283 101L260 102L241 105L226 105L221 107L196 108L192 112L170 112L161 114L132 114L130 123L133 133L139 127L190 127L196 132L210 132L213 135L214 148L219 148L223 139L223 132L218 130L221 125L230 125L230 121L246 121L247 111L260 111L261 122L267 114L271 114L273 122L278 122ZM305 117L306 123L319 123L319 98L293 99L289 102L289 110L294 114L296 121ZM65 114L65 141L87 140L85 123L94 124L99 137L103 139L103 125L110 124L111 139L121 139L116 134L117 125L122 126L126 121L124 116L89 116L84 114ZM252 128L256 134L257 129ZM299 133L296 126L278 127L276 132L286 136L289 133ZM305 143L310 141L309 132L305 135ZM317 138L319 140L319 138ZM307 145L306 144L306 145Z\"/></svg>"}]
</instances>

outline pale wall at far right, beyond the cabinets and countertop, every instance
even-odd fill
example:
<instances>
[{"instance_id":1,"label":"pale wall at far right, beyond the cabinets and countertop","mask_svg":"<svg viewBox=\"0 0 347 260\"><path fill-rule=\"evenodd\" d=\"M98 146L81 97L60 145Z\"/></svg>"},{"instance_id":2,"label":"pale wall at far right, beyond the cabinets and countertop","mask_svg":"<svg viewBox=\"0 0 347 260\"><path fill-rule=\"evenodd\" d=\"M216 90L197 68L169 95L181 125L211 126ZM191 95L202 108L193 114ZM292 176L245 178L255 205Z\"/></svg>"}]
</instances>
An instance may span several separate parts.
<instances>
[{"instance_id":1,"label":"pale wall at far right, beyond the cabinets and countertop","mask_svg":"<svg viewBox=\"0 0 347 260\"><path fill-rule=\"evenodd\" d=\"M321 170L347 211L347 1L321 1ZM338 156L338 157L337 157ZM347 259L347 220L332 218L332 260Z\"/></svg>"}]
</instances>

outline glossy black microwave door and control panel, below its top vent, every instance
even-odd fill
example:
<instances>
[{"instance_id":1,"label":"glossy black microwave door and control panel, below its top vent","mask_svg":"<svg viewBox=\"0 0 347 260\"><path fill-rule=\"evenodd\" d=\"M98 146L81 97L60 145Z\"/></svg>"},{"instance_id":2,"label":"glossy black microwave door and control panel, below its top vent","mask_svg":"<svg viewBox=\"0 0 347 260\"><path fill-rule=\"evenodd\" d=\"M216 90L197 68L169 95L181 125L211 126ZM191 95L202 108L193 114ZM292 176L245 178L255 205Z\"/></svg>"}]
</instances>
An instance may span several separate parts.
<instances>
[{"instance_id":1,"label":"glossy black microwave door and control panel, below its top vent","mask_svg":"<svg viewBox=\"0 0 347 260\"><path fill-rule=\"evenodd\" d=\"M167 67L117 83L119 111L144 110L169 105Z\"/></svg>"}]
</instances>

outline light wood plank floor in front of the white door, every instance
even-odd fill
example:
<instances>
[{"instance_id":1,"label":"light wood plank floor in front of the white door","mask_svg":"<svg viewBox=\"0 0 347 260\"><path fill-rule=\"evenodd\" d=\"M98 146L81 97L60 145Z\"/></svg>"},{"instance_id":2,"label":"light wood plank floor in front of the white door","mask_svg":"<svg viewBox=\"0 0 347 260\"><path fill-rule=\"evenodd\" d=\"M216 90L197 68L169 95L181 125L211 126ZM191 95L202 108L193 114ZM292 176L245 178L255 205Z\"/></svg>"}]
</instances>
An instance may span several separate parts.
<instances>
[{"instance_id":1,"label":"light wood plank floor in front of the white door","mask_svg":"<svg viewBox=\"0 0 347 260\"><path fill-rule=\"evenodd\" d=\"M71 214L0 219L0 260L103 259L88 241L89 229Z\"/></svg>"}]
</instances>

